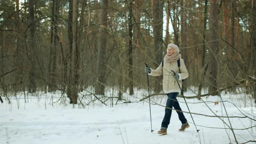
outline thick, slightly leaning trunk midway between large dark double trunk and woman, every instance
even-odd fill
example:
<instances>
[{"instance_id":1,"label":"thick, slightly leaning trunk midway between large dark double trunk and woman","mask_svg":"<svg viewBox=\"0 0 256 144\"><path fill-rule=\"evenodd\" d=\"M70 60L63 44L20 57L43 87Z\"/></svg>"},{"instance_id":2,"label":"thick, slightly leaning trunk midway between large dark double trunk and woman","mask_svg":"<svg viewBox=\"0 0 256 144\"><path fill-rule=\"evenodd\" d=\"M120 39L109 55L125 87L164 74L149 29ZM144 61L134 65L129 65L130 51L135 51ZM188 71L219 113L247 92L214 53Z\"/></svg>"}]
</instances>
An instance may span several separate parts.
<instances>
[{"instance_id":1,"label":"thick, slightly leaning trunk midway between large dark double trunk and woman","mask_svg":"<svg viewBox=\"0 0 256 144\"><path fill-rule=\"evenodd\" d=\"M105 94L106 84L106 46L108 36L108 0L102 0L100 3L100 38L98 40L98 58L97 58L97 85L95 94Z\"/></svg>"}]
</instances>

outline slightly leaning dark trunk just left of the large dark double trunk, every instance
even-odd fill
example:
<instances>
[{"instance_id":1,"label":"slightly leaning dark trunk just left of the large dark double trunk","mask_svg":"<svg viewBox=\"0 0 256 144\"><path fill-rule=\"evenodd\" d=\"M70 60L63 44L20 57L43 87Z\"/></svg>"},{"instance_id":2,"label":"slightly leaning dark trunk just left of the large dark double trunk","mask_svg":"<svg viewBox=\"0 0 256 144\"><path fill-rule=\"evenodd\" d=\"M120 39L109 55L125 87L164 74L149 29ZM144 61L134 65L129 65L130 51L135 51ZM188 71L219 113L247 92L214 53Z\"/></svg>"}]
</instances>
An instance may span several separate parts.
<instances>
[{"instance_id":1,"label":"slightly leaning dark trunk just left of the large dark double trunk","mask_svg":"<svg viewBox=\"0 0 256 144\"><path fill-rule=\"evenodd\" d=\"M50 50L50 61L49 61L49 84L48 92L57 90L57 29L58 29L58 11L59 11L58 0L52 0L52 26L51 26L51 50Z\"/></svg>"}]
</instances>

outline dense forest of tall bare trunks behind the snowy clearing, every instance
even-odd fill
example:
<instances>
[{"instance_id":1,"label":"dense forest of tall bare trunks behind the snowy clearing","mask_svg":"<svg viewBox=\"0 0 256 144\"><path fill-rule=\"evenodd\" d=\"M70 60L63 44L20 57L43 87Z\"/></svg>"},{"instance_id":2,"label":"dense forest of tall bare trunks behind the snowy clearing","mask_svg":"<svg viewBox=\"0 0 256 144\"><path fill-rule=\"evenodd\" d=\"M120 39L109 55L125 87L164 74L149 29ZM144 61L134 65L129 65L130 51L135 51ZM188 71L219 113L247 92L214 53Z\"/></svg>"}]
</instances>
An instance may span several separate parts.
<instances>
[{"instance_id":1,"label":"dense forest of tall bare trunks behind the snowy clearing","mask_svg":"<svg viewBox=\"0 0 256 144\"><path fill-rule=\"evenodd\" d=\"M60 90L77 104L83 90L101 101L114 88L124 100L147 88L144 63L159 66L169 43L189 72L184 91L242 88L255 101L256 0L0 0L0 100ZM161 76L150 89L162 92Z\"/></svg>"}]
</instances>

